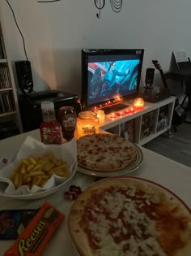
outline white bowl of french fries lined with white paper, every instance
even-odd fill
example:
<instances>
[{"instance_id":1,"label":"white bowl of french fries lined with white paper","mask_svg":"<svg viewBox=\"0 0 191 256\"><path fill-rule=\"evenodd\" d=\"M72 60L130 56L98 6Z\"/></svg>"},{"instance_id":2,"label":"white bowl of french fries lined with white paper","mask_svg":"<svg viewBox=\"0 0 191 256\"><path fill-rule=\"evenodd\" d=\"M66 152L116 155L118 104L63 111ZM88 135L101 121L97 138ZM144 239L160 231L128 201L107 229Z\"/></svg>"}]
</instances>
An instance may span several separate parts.
<instances>
[{"instance_id":1,"label":"white bowl of french fries lined with white paper","mask_svg":"<svg viewBox=\"0 0 191 256\"><path fill-rule=\"evenodd\" d=\"M63 187L77 170L76 141L45 145L27 137L0 170L0 195L18 199L46 197Z\"/></svg>"}]
</instances>

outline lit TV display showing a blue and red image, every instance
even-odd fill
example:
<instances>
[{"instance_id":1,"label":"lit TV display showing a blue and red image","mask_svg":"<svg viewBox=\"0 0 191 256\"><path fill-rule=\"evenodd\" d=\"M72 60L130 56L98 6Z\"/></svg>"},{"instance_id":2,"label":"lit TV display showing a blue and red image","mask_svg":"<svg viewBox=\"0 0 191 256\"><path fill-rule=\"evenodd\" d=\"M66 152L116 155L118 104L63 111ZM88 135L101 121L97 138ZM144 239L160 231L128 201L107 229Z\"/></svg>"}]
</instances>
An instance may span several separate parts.
<instances>
[{"instance_id":1,"label":"lit TV display showing a blue and red image","mask_svg":"<svg viewBox=\"0 0 191 256\"><path fill-rule=\"evenodd\" d=\"M88 63L88 104L136 92L140 59Z\"/></svg>"}]
</instances>

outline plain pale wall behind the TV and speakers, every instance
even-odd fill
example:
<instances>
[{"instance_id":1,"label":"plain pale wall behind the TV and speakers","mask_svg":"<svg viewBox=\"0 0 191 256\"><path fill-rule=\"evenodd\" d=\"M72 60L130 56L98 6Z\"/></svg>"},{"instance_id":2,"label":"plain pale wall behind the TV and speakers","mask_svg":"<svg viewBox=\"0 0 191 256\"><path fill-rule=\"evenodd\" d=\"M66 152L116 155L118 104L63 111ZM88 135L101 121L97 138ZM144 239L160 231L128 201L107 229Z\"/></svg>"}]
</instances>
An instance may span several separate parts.
<instances>
[{"instance_id":1,"label":"plain pale wall behind the TV and speakers","mask_svg":"<svg viewBox=\"0 0 191 256\"><path fill-rule=\"evenodd\" d=\"M145 49L142 81L152 59L158 59L166 71L172 50L191 54L190 0L125 0L118 14L105 0L100 19L94 0L9 2L25 39L36 91L50 87L80 96L82 48ZM0 7L11 60L23 60L23 42L6 0Z\"/></svg>"}]
</instances>

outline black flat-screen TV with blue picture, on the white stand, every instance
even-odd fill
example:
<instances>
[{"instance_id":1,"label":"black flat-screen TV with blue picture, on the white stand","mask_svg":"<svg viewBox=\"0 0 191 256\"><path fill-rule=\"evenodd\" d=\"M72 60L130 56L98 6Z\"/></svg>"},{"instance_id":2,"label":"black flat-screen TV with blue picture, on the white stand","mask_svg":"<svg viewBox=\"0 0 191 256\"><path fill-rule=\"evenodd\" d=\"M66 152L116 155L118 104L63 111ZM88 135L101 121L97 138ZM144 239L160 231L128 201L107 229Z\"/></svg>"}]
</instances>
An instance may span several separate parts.
<instances>
[{"instance_id":1,"label":"black flat-screen TV with blue picture, on the white stand","mask_svg":"<svg viewBox=\"0 0 191 256\"><path fill-rule=\"evenodd\" d=\"M113 111L138 94L144 50L83 49L83 111ZM123 106L124 107L124 106Z\"/></svg>"}]
</instances>

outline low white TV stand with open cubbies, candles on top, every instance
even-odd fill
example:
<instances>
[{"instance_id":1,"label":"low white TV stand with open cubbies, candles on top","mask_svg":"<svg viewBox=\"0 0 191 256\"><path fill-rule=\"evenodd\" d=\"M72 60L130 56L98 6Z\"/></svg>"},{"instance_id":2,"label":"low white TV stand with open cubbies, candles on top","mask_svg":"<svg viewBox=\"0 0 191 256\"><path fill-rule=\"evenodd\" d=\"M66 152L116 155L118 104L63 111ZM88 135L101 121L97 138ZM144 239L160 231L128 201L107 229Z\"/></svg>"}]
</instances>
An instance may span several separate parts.
<instances>
[{"instance_id":1,"label":"low white TV stand with open cubbies, candles on top","mask_svg":"<svg viewBox=\"0 0 191 256\"><path fill-rule=\"evenodd\" d=\"M171 96L156 103L145 102L142 110L116 118L111 118L112 113L108 114L100 128L126 137L128 128L133 125L134 128L131 130L134 132L134 142L144 145L171 128L175 100L176 98ZM133 102L129 101L125 104L128 108ZM125 109L122 110L123 113L124 111Z\"/></svg>"}]
</instances>

